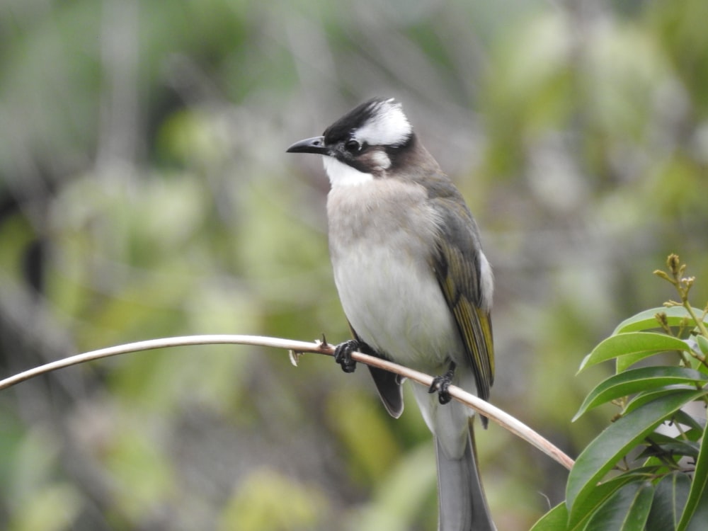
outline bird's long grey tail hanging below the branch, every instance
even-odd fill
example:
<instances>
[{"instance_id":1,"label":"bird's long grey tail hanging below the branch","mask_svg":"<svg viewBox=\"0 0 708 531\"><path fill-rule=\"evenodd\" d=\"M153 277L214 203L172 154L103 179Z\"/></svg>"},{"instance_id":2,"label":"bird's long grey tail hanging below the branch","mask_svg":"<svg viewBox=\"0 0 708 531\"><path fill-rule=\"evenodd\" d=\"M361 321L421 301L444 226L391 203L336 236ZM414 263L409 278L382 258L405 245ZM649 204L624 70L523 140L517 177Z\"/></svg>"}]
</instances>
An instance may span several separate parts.
<instances>
[{"instance_id":1,"label":"bird's long grey tail hanging below the branch","mask_svg":"<svg viewBox=\"0 0 708 531\"><path fill-rule=\"evenodd\" d=\"M438 457L438 530L496 531L479 480L472 425L461 458L447 457L437 437L435 453Z\"/></svg>"}]
</instances>

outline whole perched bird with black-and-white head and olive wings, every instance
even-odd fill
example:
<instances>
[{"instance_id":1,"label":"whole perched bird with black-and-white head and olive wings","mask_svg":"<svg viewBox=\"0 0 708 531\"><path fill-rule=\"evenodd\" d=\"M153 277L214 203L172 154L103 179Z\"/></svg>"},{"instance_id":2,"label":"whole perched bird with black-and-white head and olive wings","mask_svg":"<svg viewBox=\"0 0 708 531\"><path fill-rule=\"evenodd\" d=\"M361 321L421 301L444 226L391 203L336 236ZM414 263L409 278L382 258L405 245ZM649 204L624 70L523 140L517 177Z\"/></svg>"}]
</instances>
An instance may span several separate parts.
<instances>
[{"instance_id":1,"label":"whole perched bird with black-and-white head and olive wings","mask_svg":"<svg viewBox=\"0 0 708 531\"><path fill-rule=\"evenodd\" d=\"M438 530L496 530L474 412L447 392L455 384L487 400L494 379L493 274L462 194L394 98L361 103L287 152L322 155L330 181L329 253L352 334L335 359L353 372L359 350L435 375L430 389L415 385L413 394L435 441ZM398 418L402 379L369 369Z\"/></svg>"}]
</instances>

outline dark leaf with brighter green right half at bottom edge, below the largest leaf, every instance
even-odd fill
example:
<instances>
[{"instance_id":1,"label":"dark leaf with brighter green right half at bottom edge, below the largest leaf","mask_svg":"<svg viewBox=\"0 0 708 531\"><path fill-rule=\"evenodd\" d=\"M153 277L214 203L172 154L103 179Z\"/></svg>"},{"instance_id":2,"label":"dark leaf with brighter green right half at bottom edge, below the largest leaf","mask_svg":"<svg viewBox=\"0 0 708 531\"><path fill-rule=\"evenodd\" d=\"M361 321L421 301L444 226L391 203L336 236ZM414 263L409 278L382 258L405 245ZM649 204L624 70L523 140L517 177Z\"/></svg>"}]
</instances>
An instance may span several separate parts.
<instances>
[{"instance_id":1,"label":"dark leaf with brighter green right half at bottom edge, below the largest leaf","mask_svg":"<svg viewBox=\"0 0 708 531\"><path fill-rule=\"evenodd\" d=\"M651 481L635 481L622 486L593 514L586 529L644 531L653 492Z\"/></svg>"}]
</instances>

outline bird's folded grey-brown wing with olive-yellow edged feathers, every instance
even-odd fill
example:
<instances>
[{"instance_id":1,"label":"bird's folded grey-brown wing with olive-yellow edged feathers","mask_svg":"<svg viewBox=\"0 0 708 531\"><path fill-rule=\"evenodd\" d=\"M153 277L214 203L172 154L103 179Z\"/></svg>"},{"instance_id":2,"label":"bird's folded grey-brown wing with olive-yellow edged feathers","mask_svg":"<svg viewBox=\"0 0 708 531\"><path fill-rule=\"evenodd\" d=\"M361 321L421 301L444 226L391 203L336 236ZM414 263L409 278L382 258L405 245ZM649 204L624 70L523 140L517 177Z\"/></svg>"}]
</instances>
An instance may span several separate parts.
<instances>
[{"instance_id":1,"label":"bird's folded grey-brown wing with olive-yellow edged feathers","mask_svg":"<svg viewBox=\"0 0 708 531\"><path fill-rule=\"evenodd\" d=\"M477 395L486 400L494 381L494 350L489 310L480 307L483 286L479 234L461 197L438 198L433 203L442 218L432 260L435 277L455 316Z\"/></svg>"}]
</instances>

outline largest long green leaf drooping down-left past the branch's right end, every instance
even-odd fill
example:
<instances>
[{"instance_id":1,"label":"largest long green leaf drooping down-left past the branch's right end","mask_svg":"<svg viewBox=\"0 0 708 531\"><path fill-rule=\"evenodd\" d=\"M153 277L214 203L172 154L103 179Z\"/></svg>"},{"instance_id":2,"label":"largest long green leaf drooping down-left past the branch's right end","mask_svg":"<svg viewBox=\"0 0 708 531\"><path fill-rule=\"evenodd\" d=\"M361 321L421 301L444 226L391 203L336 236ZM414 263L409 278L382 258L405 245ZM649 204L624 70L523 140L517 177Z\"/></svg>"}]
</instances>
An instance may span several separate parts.
<instances>
[{"instance_id":1,"label":"largest long green leaf drooping down-left past the branch's right end","mask_svg":"<svg viewBox=\"0 0 708 531\"><path fill-rule=\"evenodd\" d=\"M687 401L701 395L701 391L695 391L693 397L688 398L677 393L660 396L622 416L591 441L578 456L568 477L566 503L571 517L576 502L582 503L621 457Z\"/></svg>"}]
</instances>

